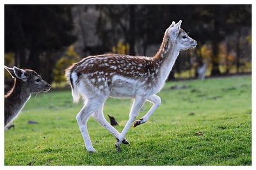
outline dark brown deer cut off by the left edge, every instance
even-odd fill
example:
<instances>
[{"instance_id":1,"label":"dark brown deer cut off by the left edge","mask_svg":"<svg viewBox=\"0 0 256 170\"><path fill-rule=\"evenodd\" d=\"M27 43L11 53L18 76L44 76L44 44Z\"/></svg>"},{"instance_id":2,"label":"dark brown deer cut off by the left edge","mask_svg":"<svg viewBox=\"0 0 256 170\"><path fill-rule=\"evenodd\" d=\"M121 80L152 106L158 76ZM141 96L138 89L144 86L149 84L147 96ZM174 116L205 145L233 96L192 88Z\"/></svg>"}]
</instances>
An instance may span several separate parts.
<instances>
[{"instance_id":1,"label":"dark brown deer cut off by the left edge","mask_svg":"<svg viewBox=\"0 0 256 170\"><path fill-rule=\"evenodd\" d=\"M4 68L14 78L12 89L4 96L4 128L6 128L19 115L31 94L47 92L51 89L51 85L31 69L19 69L15 66L13 68L4 66Z\"/></svg>"}]
</instances>

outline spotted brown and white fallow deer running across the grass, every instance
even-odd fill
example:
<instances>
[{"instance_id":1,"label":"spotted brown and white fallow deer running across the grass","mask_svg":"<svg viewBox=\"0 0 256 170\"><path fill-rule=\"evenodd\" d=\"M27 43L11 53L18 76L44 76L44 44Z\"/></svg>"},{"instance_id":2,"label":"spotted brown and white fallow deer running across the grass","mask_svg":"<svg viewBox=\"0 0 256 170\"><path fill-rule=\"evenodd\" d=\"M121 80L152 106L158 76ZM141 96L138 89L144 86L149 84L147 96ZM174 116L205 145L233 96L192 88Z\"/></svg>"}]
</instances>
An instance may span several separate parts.
<instances>
[{"instance_id":1,"label":"spotted brown and white fallow deer running across the grass","mask_svg":"<svg viewBox=\"0 0 256 170\"><path fill-rule=\"evenodd\" d=\"M161 99L156 94L162 89L179 52L197 45L194 39L180 29L180 24L181 20L177 24L172 22L166 29L163 43L154 57L118 54L89 56L66 69L74 102L79 101L80 95L84 99L84 106L76 119L88 152L96 152L87 130L87 121L91 115L115 136L115 146L120 152L121 143L129 144L125 134L145 101L154 105L144 117L134 122L134 127L147 122L160 106ZM108 97L134 99L129 120L121 133L104 118L103 106Z\"/></svg>"}]
</instances>

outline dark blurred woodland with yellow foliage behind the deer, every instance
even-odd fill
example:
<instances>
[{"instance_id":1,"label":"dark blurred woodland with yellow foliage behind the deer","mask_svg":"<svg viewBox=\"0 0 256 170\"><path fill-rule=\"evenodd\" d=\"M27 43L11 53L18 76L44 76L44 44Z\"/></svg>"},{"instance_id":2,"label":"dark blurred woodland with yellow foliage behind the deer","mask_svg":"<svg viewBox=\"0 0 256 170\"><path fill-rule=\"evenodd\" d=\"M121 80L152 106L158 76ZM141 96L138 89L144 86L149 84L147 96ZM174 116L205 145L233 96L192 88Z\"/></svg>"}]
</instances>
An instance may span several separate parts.
<instances>
[{"instance_id":1,"label":"dark blurred woodland with yellow foliage behind the deer","mask_svg":"<svg viewBox=\"0 0 256 170\"><path fill-rule=\"evenodd\" d=\"M65 67L88 55L154 56L174 20L198 41L180 53L170 79L251 71L252 5L13 5L4 6L4 62L60 83ZM8 81L6 75L6 81Z\"/></svg>"}]
</instances>

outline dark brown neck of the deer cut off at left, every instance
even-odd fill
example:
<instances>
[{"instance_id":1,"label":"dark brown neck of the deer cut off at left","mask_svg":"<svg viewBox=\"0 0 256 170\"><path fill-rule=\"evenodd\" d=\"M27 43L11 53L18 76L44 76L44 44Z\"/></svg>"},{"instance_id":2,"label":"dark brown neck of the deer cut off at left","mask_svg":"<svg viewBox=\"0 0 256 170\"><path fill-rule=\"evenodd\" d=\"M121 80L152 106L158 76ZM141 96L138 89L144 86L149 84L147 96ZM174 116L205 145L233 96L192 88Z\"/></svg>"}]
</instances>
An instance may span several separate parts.
<instances>
[{"instance_id":1,"label":"dark brown neck of the deer cut off at left","mask_svg":"<svg viewBox=\"0 0 256 170\"><path fill-rule=\"evenodd\" d=\"M4 124L16 117L29 100L31 93L22 80L14 79L12 90L4 96Z\"/></svg>"}]
</instances>

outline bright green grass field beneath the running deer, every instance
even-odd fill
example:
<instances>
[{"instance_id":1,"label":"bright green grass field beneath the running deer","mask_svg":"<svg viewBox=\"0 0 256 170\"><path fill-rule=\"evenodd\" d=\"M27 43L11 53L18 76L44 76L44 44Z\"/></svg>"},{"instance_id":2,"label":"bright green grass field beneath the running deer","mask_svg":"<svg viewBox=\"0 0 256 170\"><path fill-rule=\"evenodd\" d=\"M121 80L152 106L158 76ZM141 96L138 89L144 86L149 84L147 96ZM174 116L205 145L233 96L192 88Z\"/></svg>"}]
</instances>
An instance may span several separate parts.
<instances>
[{"instance_id":1,"label":"bright green grass field beneath the running deer","mask_svg":"<svg viewBox=\"0 0 256 170\"><path fill-rule=\"evenodd\" d=\"M170 90L174 85L187 88ZM13 122L15 129L5 131L4 164L252 165L251 87L251 76L166 83L161 106L146 124L131 127L126 136L131 145L122 145L121 153L116 139L90 118L97 150L91 154L76 122L83 104L73 104L70 91L39 94ZM150 106L146 103L138 118ZM130 107L131 100L108 99L104 115L114 116L122 131Z\"/></svg>"}]
</instances>

